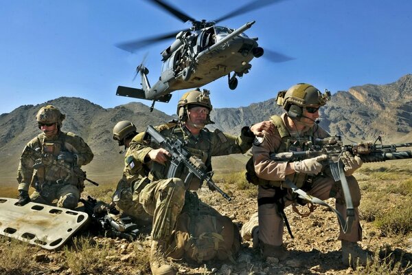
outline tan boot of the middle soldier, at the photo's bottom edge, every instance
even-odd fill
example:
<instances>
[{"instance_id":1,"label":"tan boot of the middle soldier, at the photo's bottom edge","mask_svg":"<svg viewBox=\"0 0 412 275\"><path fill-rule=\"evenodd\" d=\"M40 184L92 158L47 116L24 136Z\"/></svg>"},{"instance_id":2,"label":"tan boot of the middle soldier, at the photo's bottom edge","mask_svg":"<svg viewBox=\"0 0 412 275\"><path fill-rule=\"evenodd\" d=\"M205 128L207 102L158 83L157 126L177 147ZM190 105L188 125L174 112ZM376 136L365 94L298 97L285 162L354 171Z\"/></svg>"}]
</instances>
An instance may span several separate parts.
<instances>
[{"instance_id":1,"label":"tan boot of the middle soldier, at the photo's bottom edge","mask_svg":"<svg viewBox=\"0 0 412 275\"><path fill-rule=\"evenodd\" d=\"M165 241L152 240L150 250L150 268L153 275L174 275L176 270L166 260Z\"/></svg>"}]
</instances>

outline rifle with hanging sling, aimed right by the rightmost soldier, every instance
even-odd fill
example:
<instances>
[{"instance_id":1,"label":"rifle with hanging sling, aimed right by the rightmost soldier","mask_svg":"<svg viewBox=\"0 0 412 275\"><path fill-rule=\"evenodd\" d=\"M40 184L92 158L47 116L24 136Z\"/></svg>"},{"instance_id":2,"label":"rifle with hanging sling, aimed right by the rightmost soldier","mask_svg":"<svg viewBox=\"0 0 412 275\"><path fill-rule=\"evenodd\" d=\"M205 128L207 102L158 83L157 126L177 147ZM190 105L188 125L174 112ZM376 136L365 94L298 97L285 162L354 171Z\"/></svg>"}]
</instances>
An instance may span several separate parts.
<instances>
[{"instance_id":1,"label":"rifle with hanging sling, aimed right by the rightmost soldier","mask_svg":"<svg viewBox=\"0 0 412 275\"><path fill-rule=\"evenodd\" d=\"M378 141L379 143L377 143ZM396 151L396 148L411 147L412 143L384 145L382 143L382 137L380 136L378 136L374 143L361 142L358 144L343 145L341 137L336 135L335 137L316 139L314 142L307 142L305 145L305 147L308 148L307 151L273 153L270 157L276 161L295 162L301 159L317 157L319 155L328 155L328 159L324 161L324 164L326 167L330 167L334 181L341 181L346 204L346 220L343 219L343 216L339 211L332 208L332 206L325 203L325 201L308 195L304 190L298 188L290 179L286 179L284 182L286 186L297 193L301 199L326 206L334 211L341 223L341 228L345 233L349 233L352 228L352 223L354 222L354 206L343 169L343 162L341 160L342 153L348 151L352 155L361 157L363 162L385 162L386 160L412 158L412 151ZM290 233L290 228L288 228L288 231Z\"/></svg>"}]
</instances>

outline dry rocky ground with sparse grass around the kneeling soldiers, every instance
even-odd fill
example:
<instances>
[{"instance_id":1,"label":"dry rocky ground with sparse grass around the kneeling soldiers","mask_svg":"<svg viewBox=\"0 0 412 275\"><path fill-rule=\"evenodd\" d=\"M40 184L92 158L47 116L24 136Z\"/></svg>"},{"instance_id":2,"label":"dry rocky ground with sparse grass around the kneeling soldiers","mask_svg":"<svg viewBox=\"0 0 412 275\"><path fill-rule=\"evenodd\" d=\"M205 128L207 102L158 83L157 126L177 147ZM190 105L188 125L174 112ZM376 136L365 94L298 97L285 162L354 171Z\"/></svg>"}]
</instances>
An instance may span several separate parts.
<instances>
[{"instance_id":1,"label":"dry rocky ground with sparse grass around the kneeling soldiers","mask_svg":"<svg viewBox=\"0 0 412 275\"><path fill-rule=\"evenodd\" d=\"M368 165L356 175L360 179L363 195L360 212L366 239L362 243L369 250L376 251L374 262L367 267L353 270L339 264L336 266L340 245L339 241L334 244L334 240L339 227L336 222L325 222L336 221L336 217L332 212L323 211L323 208L318 208L308 218L297 217L291 208L286 209L295 235L295 239L290 239L284 234L288 249L302 252L312 249L309 255L317 250L323 251L311 258L310 261L315 263L310 267L290 268L288 264L267 263L247 245L241 248L241 253L252 255L253 272L256 274L262 271L266 274L306 274L312 268L316 274L411 274L412 256L407 248L412 238L412 206L409 206L412 198L411 175L407 168L389 170ZM243 172L215 175L214 180L222 190L233 196L233 200L228 203L218 192L203 188L205 190L199 192L202 201L231 216L238 225L247 221L257 209L257 186L249 184ZM110 201L116 184L88 185L83 196L91 195ZM15 189L10 190L13 192ZM313 221L319 221L322 226L313 226ZM324 252L331 249L334 252ZM144 237L129 243L104 236L78 234L62 250L52 252L3 237L0 238L0 274L150 274L149 250L150 241ZM315 265L319 265L319 270ZM187 275L211 274L211 267L216 267L216 274L242 274L244 270L251 270L251 263L230 265L213 262L203 266L178 261L176 266Z\"/></svg>"}]
</instances>

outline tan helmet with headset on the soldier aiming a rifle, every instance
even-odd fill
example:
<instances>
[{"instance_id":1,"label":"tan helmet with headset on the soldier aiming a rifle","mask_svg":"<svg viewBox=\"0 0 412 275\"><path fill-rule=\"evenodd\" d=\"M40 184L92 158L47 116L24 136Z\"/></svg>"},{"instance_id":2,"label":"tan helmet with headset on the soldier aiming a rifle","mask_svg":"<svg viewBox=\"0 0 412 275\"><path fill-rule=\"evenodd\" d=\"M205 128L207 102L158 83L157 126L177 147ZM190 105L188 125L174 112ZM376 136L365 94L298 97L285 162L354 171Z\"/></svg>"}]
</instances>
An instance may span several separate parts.
<instances>
[{"instance_id":1,"label":"tan helmet with headset on the soldier aiming a rifle","mask_svg":"<svg viewBox=\"0 0 412 275\"><path fill-rule=\"evenodd\" d=\"M330 91L322 94L319 89L307 83L293 85L287 91L279 91L277 104L284 107L290 118L300 118L302 108L312 105L323 106L330 100Z\"/></svg>"}]
</instances>

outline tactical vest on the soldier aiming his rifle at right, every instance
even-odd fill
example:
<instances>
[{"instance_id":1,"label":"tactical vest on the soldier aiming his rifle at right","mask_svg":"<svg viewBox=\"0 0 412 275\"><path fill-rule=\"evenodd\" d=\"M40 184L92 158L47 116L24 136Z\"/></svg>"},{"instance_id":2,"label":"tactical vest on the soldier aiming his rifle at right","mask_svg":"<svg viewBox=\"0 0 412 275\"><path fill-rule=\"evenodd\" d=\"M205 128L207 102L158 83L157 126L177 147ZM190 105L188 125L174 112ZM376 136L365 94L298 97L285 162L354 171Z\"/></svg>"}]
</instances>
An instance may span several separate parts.
<instances>
[{"instance_id":1,"label":"tactical vest on the soldier aiming his rifle at right","mask_svg":"<svg viewBox=\"0 0 412 275\"><path fill-rule=\"evenodd\" d=\"M292 137L284 124L284 121L278 115L273 115L271 117L271 121L275 125L279 135L281 137L281 142L279 148L275 150L275 152L271 153L283 153L288 151L305 151L308 148L308 142L313 140L313 133L312 129L307 131L302 136L298 138ZM299 159L297 159L299 160ZM265 187L280 187L282 186L284 181L270 181L267 179L261 179L255 173L255 165L253 162L253 156L249 159L246 164L246 179L251 184L265 186ZM293 173L286 176L287 179L295 182L295 184L300 188L303 186L308 179L308 175L302 173Z\"/></svg>"}]
</instances>

